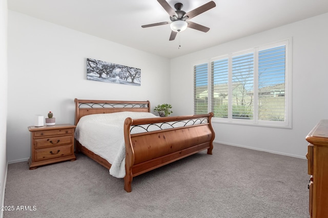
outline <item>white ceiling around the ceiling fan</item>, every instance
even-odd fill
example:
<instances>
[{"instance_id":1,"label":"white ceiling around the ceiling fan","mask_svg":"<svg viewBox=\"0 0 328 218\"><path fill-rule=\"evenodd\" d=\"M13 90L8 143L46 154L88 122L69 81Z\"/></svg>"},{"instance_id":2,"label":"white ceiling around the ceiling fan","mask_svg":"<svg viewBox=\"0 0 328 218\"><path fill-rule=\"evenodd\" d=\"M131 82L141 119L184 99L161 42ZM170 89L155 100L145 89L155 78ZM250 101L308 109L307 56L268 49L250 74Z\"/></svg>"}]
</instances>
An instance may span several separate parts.
<instances>
[{"instance_id":1,"label":"white ceiling around the ceiling fan","mask_svg":"<svg viewBox=\"0 0 328 218\"><path fill-rule=\"evenodd\" d=\"M189 12L210 0L167 0ZM188 28L169 41L170 25L141 25L170 21L157 0L8 0L8 9L57 25L174 58L237 38L328 12L328 0L214 0L216 7L190 21L211 28ZM181 45L179 49L179 44Z\"/></svg>"}]
</instances>

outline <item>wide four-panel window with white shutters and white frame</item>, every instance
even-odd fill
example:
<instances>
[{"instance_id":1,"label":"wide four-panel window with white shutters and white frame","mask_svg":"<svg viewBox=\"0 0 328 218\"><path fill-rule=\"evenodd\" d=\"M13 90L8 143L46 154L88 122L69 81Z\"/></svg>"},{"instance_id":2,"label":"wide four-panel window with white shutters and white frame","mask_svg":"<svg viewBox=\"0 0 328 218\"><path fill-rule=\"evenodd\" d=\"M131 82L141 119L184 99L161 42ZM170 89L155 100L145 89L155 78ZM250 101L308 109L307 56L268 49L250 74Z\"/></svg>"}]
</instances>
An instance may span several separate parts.
<instances>
[{"instance_id":1,"label":"wide four-panel window with white shutters and white frame","mask_svg":"<svg viewBox=\"0 0 328 218\"><path fill-rule=\"evenodd\" d=\"M194 65L194 112L215 120L290 127L290 40Z\"/></svg>"}]
</instances>

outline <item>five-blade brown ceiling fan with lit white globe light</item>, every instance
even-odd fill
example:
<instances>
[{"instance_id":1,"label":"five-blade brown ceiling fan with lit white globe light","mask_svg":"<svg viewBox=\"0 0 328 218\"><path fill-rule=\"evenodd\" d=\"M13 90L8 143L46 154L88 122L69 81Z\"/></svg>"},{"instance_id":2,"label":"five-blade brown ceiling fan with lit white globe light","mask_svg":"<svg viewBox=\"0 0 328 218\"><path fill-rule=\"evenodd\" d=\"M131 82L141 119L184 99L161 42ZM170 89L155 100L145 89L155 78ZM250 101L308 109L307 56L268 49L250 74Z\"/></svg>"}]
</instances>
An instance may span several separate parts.
<instances>
[{"instance_id":1,"label":"five-blade brown ceiling fan with lit white globe light","mask_svg":"<svg viewBox=\"0 0 328 218\"><path fill-rule=\"evenodd\" d=\"M178 32L186 30L187 27L195 29L195 30L199 30L199 31L202 31L205 33L210 30L210 28L204 27L202 25L199 25L198 23L189 21L189 19L214 8L216 6L215 2L213 2L213 1L208 2L192 11L187 12L187 13L185 11L181 10L183 7L182 3L176 3L174 5L174 8L176 10L174 10L166 0L157 0L157 2L168 12L168 14L170 15L171 21L164 21L164 22L152 23L149 25L142 25L141 26L142 28L167 25L167 24L171 23L170 27L171 27L172 32L170 35L170 41L175 39Z\"/></svg>"}]
</instances>

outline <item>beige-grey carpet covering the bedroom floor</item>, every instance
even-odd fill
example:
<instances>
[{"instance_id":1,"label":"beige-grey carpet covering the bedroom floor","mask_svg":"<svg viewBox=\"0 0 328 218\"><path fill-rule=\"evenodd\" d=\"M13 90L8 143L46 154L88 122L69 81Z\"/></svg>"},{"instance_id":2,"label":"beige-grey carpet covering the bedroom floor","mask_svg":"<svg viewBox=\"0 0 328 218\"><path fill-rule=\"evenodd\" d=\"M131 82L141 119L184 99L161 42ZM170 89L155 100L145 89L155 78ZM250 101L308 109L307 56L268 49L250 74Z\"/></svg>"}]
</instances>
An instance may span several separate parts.
<instances>
[{"instance_id":1,"label":"beige-grey carpet covering the bedroom floor","mask_svg":"<svg viewBox=\"0 0 328 218\"><path fill-rule=\"evenodd\" d=\"M308 181L305 159L215 144L213 155L135 177L127 193L123 179L78 154L32 171L9 164L5 206L14 210L4 217L301 218L309 217Z\"/></svg>"}]
</instances>

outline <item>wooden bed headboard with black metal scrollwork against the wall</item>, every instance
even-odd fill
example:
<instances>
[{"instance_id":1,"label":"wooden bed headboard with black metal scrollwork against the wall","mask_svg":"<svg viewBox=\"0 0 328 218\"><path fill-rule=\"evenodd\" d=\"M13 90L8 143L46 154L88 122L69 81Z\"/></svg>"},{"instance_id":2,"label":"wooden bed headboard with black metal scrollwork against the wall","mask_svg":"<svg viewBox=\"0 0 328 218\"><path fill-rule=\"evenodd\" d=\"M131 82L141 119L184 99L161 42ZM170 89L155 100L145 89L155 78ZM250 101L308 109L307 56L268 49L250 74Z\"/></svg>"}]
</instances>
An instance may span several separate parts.
<instances>
[{"instance_id":1,"label":"wooden bed headboard with black metal scrollwork against the wall","mask_svg":"<svg viewBox=\"0 0 328 218\"><path fill-rule=\"evenodd\" d=\"M106 100L80 100L75 102L75 125L78 120L89 114L115 113L121 111L150 112L149 101L106 101Z\"/></svg>"}]
</instances>

